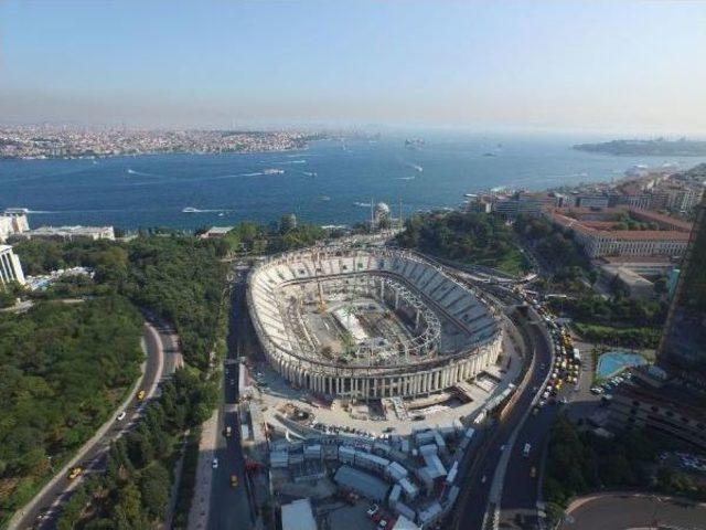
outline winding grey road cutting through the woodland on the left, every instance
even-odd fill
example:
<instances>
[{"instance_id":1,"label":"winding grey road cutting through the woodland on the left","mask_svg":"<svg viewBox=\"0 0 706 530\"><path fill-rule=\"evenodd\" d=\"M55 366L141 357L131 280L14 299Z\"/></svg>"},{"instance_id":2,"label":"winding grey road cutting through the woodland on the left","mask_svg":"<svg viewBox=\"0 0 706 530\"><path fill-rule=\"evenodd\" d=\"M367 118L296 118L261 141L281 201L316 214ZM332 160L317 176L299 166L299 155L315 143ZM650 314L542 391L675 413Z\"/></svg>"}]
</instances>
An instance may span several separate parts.
<instances>
[{"instance_id":1,"label":"winding grey road cutting through the woodland on the left","mask_svg":"<svg viewBox=\"0 0 706 530\"><path fill-rule=\"evenodd\" d=\"M180 362L181 354L179 354L178 347L173 342L172 335L171 330L162 325L158 325L158 327L146 325L143 339L147 358L145 362L145 375L140 388L146 390L148 400L158 393L158 383L161 378L172 373L173 367ZM165 356L167 352L169 352L169 356ZM171 359L171 357L174 357L174 359ZM93 444L89 444L89 447L83 452L84 454L77 465L81 465L85 469L84 475L69 481L66 475L62 474L54 484L47 486L39 497L35 497L35 506L18 520L17 526L11 528L36 528L46 530L54 528L62 504L71 498L83 477L104 469L106 454L110 447L110 443L128 432L136 424L140 415L139 405L135 393L132 393L126 407L127 416L125 420L121 422L118 422L116 418L111 420L106 432L101 436L98 436L97 439L94 441Z\"/></svg>"}]
</instances>

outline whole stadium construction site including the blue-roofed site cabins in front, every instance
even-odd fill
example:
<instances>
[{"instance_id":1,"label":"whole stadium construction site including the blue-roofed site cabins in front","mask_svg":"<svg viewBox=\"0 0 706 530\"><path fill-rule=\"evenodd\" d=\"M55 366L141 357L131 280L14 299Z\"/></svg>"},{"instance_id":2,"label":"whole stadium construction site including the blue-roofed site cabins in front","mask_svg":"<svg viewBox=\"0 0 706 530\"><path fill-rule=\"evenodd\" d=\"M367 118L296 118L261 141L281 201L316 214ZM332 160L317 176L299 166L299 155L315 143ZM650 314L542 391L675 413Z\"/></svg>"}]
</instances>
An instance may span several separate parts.
<instances>
[{"instance_id":1,"label":"whole stadium construction site including the blue-roofed site cabins in front","mask_svg":"<svg viewBox=\"0 0 706 530\"><path fill-rule=\"evenodd\" d=\"M438 527L522 370L501 308L389 247L270 257L246 298L260 361L240 365L240 442L282 528Z\"/></svg>"}]
</instances>

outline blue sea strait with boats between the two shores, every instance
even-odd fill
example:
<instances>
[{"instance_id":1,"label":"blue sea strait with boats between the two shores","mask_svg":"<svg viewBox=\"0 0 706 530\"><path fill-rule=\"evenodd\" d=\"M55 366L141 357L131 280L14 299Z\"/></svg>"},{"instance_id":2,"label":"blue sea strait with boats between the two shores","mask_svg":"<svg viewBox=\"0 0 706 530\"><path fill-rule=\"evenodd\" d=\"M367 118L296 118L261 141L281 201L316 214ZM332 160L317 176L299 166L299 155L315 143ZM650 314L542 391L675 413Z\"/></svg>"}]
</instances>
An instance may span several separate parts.
<instances>
[{"instance_id":1,"label":"blue sea strait with boats between the two shores","mask_svg":"<svg viewBox=\"0 0 706 530\"><path fill-rule=\"evenodd\" d=\"M386 202L408 216L456 208L466 193L542 190L621 178L633 166L689 168L706 158L613 157L571 149L589 138L418 132L329 139L288 152L0 160L0 209L32 227L114 225L193 230L243 220L353 225ZM191 209L191 213L184 213Z\"/></svg>"}]
</instances>

